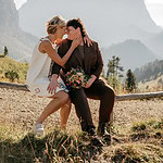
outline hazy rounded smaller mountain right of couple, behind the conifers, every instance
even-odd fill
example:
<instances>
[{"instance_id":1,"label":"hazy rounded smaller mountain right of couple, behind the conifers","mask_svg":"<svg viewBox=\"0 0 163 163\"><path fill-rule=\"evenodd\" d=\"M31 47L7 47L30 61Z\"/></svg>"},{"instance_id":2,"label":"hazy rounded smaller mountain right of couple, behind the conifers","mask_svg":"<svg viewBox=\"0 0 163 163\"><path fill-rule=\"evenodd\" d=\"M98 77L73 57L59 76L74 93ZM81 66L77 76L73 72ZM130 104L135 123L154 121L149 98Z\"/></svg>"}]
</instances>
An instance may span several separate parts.
<instances>
[{"instance_id":1,"label":"hazy rounded smaller mountain right of couple, behind the conifers","mask_svg":"<svg viewBox=\"0 0 163 163\"><path fill-rule=\"evenodd\" d=\"M128 39L124 42L112 45L110 48L101 49L103 54L104 67L113 55L121 58L121 65L125 71L135 70L143 64L154 61L156 55L148 49L140 40Z\"/></svg>"}]
</instances>

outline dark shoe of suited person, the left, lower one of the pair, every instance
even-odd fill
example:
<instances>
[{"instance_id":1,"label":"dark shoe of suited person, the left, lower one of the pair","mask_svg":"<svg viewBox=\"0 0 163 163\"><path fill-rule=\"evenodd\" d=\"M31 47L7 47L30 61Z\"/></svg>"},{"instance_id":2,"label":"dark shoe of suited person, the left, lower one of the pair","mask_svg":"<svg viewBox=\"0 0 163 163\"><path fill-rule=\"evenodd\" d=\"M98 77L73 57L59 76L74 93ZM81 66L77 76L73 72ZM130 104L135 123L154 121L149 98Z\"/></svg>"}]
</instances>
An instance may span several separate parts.
<instances>
[{"instance_id":1,"label":"dark shoe of suited person, the left, lower one of the pair","mask_svg":"<svg viewBox=\"0 0 163 163\"><path fill-rule=\"evenodd\" d=\"M88 136L90 138L90 142L96 147L102 147L103 142L101 139L97 136L96 130L93 128L90 128L88 130Z\"/></svg>"}]
</instances>

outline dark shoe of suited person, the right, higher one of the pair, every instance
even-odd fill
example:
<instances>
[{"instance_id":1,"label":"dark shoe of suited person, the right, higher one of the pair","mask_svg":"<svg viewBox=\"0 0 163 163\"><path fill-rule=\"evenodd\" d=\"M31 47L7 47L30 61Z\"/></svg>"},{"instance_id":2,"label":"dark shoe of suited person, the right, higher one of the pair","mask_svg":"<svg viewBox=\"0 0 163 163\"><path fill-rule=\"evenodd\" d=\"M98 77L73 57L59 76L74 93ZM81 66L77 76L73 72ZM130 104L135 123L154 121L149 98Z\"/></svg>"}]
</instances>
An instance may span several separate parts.
<instances>
[{"instance_id":1,"label":"dark shoe of suited person, the right, higher one of the pair","mask_svg":"<svg viewBox=\"0 0 163 163\"><path fill-rule=\"evenodd\" d=\"M108 126L109 128L109 126ZM110 129L109 129L110 130ZM102 137L104 142L110 146L111 145L111 135L110 131L106 130L106 124L100 123L98 127L98 136Z\"/></svg>"}]
</instances>

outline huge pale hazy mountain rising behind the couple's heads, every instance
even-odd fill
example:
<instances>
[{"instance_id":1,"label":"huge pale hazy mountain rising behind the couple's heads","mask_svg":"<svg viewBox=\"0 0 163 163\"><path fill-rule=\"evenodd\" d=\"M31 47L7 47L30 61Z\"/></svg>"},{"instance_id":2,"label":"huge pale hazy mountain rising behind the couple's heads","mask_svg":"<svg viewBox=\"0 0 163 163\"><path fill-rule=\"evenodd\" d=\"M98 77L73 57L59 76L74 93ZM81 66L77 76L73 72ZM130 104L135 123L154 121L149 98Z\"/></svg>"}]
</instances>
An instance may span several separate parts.
<instances>
[{"instance_id":1,"label":"huge pale hazy mountain rising behind the couple's heads","mask_svg":"<svg viewBox=\"0 0 163 163\"><path fill-rule=\"evenodd\" d=\"M38 37L46 34L45 23L54 15L82 17L88 34L101 47L129 38L146 40L162 30L143 0L27 0L18 13L21 27Z\"/></svg>"}]
</instances>

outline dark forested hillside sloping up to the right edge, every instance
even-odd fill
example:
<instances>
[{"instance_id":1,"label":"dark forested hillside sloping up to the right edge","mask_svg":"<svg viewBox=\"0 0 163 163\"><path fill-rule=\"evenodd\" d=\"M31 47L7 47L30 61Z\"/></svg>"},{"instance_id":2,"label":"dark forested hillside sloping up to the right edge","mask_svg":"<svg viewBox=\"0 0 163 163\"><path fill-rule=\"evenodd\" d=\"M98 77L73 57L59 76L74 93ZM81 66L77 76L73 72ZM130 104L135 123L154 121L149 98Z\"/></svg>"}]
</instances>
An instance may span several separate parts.
<instances>
[{"instance_id":1,"label":"dark forested hillside sloping up to the right edge","mask_svg":"<svg viewBox=\"0 0 163 163\"><path fill-rule=\"evenodd\" d=\"M163 75L163 60L155 60L134 71L137 82L149 82Z\"/></svg>"}]
</instances>

